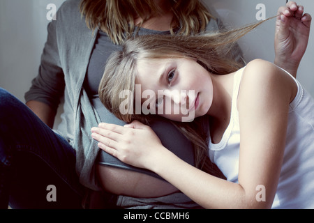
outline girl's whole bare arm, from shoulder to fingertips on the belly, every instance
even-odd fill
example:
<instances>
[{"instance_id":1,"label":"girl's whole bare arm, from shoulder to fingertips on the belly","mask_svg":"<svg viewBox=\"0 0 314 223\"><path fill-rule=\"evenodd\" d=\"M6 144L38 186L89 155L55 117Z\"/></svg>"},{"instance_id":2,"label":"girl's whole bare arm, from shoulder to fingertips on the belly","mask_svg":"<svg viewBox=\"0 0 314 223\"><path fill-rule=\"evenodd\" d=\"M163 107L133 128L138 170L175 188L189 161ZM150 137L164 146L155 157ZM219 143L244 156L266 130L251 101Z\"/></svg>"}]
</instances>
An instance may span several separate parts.
<instances>
[{"instance_id":1,"label":"girl's whole bare arm, from shoulder to fingertips on the belly","mask_svg":"<svg viewBox=\"0 0 314 223\"><path fill-rule=\"evenodd\" d=\"M283 161L289 104L296 88L293 79L271 63L255 60L246 66L238 98L239 183L221 180L180 160L139 122L128 128L102 123L92 129L93 137L107 153L156 172L204 208L270 208ZM266 188L266 201L256 199L259 185Z\"/></svg>"}]
</instances>

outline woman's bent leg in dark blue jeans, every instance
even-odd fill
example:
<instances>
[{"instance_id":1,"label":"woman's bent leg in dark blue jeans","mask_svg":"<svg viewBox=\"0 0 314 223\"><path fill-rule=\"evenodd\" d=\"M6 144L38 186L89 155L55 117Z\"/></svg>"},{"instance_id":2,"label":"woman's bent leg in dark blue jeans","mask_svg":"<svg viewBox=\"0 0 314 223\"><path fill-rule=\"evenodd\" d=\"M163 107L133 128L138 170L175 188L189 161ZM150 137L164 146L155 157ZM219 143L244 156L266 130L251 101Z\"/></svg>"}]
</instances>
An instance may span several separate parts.
<instances>
[{"instance_id":1,"label":"woman's bent leg in dark blue jeans","mask_svg":"<svg viewBox=\"0 0 314 223\"><path fill-rule=\"evenodd\" d=\"M0 89L0 208L82 208L83 192L73 148Z\"/></svg>"}]
</instances>

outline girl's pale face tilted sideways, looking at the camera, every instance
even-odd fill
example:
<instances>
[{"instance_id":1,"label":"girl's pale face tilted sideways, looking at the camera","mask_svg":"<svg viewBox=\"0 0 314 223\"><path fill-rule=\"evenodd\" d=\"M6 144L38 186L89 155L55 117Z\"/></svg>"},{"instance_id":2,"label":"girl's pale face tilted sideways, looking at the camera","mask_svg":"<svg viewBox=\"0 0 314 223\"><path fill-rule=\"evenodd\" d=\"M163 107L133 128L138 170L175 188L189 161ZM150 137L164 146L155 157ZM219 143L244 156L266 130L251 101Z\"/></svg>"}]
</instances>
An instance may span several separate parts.
<instances>
[{"instance_id":1,"label":"girl's pale face tilted sideways, looking at the camera","mask_svg":"<svg viewBox=\"0 0 314 223\"><path fill-rule=\"evenodd\" d=\"M173 121L204 116L213 102L211 76L193 59L139 60L136 84L141 88L142 109L148 105L150 111Z\"/></svg>"}]
</instances>

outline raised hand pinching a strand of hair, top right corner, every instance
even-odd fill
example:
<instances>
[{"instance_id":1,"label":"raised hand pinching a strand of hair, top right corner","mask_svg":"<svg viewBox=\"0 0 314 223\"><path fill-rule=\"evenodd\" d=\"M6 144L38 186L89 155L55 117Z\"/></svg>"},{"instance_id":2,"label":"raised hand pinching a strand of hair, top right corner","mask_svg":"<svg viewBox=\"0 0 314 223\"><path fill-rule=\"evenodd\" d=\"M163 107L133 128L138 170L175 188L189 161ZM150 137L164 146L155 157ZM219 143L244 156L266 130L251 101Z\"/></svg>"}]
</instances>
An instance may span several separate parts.
<instances>
[{"instance_id":1,"label":"raised hand pinching a strand of hair, top right corner","mask_svg":"<svg viewBox=\"0 0 314 223\"><path fill-rule=\"evenodd\" d=\"M312 17L304 14L304 7L289 1L278 9L275 33L274 63L297 76L299 63L306 52Z\"/></svg>"}]
</instances>

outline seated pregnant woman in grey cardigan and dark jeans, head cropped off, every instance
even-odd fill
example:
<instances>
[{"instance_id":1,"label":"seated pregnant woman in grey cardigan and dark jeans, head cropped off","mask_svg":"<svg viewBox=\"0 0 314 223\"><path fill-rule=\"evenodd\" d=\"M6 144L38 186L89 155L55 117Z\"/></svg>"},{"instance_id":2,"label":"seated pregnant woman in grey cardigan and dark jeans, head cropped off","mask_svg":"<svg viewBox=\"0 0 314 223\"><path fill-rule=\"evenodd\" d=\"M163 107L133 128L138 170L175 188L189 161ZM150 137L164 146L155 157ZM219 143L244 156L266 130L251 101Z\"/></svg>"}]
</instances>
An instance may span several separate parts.
<instances>
[{"instance_id":1,"label":"seated pregnant woman in grey cardigan and dark jeans, head cropped off","mask_svg":"<svg viewBox=\"0 0 314 223\"><path fill-rule=\"evenodd\" d=\"M302 13L294 2L281 10L289 8L296 15ZM186 25L182 21L193 22ZM7 91L0 90L1 208L7 208L9 198L12 208L81 208L85 190L108 190L132 197L160 197L177 192L177 188L160 180L151 171L134 169L103 153L96 160L99 148L90 137L90 128L101 121L124 124L101 105L97 95L98 84L107 56L120 49L117 43L127 38L122 34L124 31L132 33L132 27L135 27L136 33L138 25L142 26L140 35L170 35L181 31L184 35L203 31L205 27L218 29L217 24L218 21L212 19L198 1L65 1L57 12L57 20L48 25L38 76L25 95L27 106L32 111ZM286 35L289 26L279 27L282 30L278 31L280 35L276 40L292 43L296 36ZM297 42L293 43L303 42L302 38L295 40ZM290 59L287 55L294 52L294 45L278 44L277 49L281 49L277 54L278 63L282 63ZM297 70L303 54L295 55L294 69ZM59 134L56 134L51 128L61 95L64 95L64 112L57 128ZM194 163L193 147L171 124L159 121L152 127L167 146L178 151L186 148L189 153L182 158ZM165 130L171 130L173 134L177 132L177 141L170 140L173 137L170 138ZM57 188L56 202L46 199L49 185ZM173 198L161 199L170 205L174 203ZM115 197L106 198L103 203L113 201L116 205L116 200ZM180 205L193 203L181 194L175 200ZM151 200L145 202L154 203ZM158 206L158 201L156 203ZM129 203L128 206L135 204ZM90 206L85 202L85 207Z\"/></svg>"}]
</instances>

